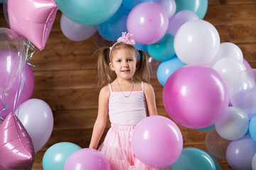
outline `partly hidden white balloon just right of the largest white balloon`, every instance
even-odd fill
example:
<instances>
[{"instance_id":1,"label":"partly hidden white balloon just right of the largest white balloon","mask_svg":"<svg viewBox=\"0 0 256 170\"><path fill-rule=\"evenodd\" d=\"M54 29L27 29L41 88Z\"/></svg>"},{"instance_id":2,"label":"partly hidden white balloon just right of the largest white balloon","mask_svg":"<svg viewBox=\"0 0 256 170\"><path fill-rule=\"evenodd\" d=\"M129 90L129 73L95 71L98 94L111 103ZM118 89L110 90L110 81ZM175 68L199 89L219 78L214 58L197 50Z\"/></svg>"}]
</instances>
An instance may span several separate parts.
<instances>
[{"instance_id":1,"label":"partly hidden white balloon just right of the largest white balloon","mask_svg":"<svg viewBox=\"0 0 256 170\"><path fill-rule=\"evenodd\" d=\"M223 59L225 57L233 57L240 62L242 62L242 50L238 47L238 45L233 44L232 42L223 42L220 43L220 49L218 50L217 55L207 63L208 66L213 67L218 60Z\"/></svg>"}]
</instances>

